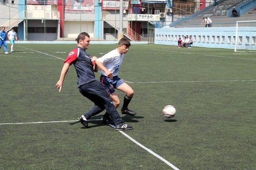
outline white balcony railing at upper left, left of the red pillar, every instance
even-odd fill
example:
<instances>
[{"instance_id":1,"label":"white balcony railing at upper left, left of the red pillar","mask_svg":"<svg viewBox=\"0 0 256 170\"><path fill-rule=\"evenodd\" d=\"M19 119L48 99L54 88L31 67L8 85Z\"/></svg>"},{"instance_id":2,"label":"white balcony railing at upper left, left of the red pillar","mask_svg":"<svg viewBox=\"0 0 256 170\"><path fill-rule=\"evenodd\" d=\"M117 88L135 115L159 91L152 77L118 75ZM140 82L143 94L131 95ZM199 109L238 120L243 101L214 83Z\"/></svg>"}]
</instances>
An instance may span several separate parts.
<instances>
[{"instance_id":1,"label":"white balcony railing at upper left, left of the red pillar","mask_svg":"<svg viewBox=\"0 0 256 170\"><path fill-rule=\"evenodd\" d=\"M58 19L60 18L60 12L59 11L43 11L43 10L37 10L35 11L26 11L28 19Z\"/></svg>"}]
</instances>

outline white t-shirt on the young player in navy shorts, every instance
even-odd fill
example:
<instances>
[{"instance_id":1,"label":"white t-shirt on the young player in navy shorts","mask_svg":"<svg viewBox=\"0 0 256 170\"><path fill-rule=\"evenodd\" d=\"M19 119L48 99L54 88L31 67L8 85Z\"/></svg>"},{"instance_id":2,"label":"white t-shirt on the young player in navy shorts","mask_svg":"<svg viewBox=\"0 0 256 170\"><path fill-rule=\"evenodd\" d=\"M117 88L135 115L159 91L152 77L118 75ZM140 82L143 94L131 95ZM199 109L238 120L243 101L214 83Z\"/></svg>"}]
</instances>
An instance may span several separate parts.
<instances>
[{"instance_id":1,"label":"white t-shirt on the young player in navy shorts","mask_svg":"<svg viewBox=\"0 0 256 170\"><path fill-rule=\"evenodd\" d=\"M124 54L121 55L118 53L117 49L114 49L104 56L98 58L97 61L103 63L103 65L112 72L113 76L117 76L118 70L123 63L123 59ZM102 75L108 76L103 70L100 70L100 72Z\"/></svg>"}]
</instances>

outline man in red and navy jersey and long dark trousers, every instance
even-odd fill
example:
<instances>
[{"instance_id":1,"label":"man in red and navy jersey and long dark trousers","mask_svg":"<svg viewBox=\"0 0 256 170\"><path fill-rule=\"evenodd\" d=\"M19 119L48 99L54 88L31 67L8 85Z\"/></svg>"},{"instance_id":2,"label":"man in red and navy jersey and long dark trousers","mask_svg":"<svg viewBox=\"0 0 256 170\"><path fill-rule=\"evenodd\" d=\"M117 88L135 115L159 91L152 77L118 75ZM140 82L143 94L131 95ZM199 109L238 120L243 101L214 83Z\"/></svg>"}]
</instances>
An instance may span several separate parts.
<instances>
[{"instance_id":1,"label":"man in red and navy jersey and long dark trousers","mask_svg":"<svg viewBox=\"0 0 256 170\"><path fill-rule=\"evenodd\" d=\"M91 57L86 52L89 45L90 35L86 32L80 33L77 37L77 48L73 49L64 61L64 66L60 74L60 80L57 82L56 87L59 88L60 92L69 66L74 64L78 78L78 90L83 96L95 104L94 107L78 118L80 123L82 123L84 127L88 128L88 120L90 117L97 115L106 109L114 122L116 130L132 129L132 126L123 123L122 118L116 111L114 104L106 94L105 88L98 80L96 80L94 70L96 69L95 60L97 57ZM108 77L112 78L112 72L106 72Z\"/></svg>"}]
</instances>

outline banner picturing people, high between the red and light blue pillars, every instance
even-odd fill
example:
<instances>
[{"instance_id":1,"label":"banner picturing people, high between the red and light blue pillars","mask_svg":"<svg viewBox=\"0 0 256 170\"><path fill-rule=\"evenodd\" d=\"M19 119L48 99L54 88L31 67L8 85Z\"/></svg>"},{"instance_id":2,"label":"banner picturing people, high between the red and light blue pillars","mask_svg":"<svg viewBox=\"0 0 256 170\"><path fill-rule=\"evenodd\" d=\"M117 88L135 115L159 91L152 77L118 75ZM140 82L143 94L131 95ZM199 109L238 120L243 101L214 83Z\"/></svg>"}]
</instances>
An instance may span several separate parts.
<instances>
[{"instance_id":1,"label":"banner picturing people, high between the red and light blue pillars","mask_svg":"<svg viewBox=\"0 0 256 170\"><path fill-rule=\"evenodd\" d=\"M94 0L66 0L65 12L94 14Z\"/></svg>"}]
</instances>

